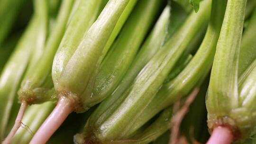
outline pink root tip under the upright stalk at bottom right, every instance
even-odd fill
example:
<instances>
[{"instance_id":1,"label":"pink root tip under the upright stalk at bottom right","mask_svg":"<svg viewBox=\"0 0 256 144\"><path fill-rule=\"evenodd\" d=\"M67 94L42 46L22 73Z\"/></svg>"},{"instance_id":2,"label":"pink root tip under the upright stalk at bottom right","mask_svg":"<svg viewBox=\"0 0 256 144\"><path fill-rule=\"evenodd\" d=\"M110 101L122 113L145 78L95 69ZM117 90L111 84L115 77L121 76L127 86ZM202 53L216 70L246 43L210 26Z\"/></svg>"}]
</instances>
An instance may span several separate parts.
<instances>
[{"instance_id":1,"label":"pink root tip under the upright stalk at bottom right","mask_svg":"<svg viewBox=\"0 0 256 144\"><path fill-rule=\"evenodd\" d=\"M233 138L232 131L228 127L218 126L214 128L207 144L230 144Z\"/></svg>"}]
</instances>

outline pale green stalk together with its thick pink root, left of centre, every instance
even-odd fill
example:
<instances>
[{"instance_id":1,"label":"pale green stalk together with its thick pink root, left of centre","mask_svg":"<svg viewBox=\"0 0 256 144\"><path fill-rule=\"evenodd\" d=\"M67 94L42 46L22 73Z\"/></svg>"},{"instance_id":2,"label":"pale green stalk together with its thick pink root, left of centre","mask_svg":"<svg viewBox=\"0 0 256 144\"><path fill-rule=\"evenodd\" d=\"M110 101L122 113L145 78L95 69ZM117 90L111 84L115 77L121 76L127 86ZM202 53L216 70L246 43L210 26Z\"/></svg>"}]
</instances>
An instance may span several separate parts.
<instances>
[{"instance_id":1,"label":"pale green stalk together with its thick pink root, left of centre","mask_svg":"<svg viewBox=\"0 0 256 144\"><path fill-rule=\"evenodd\" d=\"M83 91L89 86L91 79L94 79L93 74L97 73L97 68L103 59L104 47L129 1L110 0L83 36L82 41L74 39L81 41L77 42L79 44L77 48L76 46L73 49L60 47L55 55L52 70L59 100L30 143L46 143L72 111L84 112L88 109L87 105L83 105ZM88 96L91 95L86 95Z\"/></svg>"}]
</instances>

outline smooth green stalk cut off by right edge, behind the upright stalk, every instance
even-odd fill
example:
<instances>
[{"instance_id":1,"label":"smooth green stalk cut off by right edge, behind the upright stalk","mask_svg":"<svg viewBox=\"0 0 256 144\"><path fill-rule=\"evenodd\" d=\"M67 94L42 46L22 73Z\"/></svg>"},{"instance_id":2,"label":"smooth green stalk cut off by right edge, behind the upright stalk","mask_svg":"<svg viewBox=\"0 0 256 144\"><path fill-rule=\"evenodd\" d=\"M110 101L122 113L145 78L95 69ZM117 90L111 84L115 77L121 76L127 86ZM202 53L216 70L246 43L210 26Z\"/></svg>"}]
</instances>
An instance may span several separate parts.
<instances>
[{"instance_id":1,"label":"smooth green stalk cut off by right edge, behind the upright stalk","mask_svg":"<svg viewBox=\"0 0 256 144\"><path fill-rule=\"evenodd\" d=\"M249 24L242 37L241 49L239 54L238 76L256 59L256 9L254 10Z\"/></svg>"}]
</instances>

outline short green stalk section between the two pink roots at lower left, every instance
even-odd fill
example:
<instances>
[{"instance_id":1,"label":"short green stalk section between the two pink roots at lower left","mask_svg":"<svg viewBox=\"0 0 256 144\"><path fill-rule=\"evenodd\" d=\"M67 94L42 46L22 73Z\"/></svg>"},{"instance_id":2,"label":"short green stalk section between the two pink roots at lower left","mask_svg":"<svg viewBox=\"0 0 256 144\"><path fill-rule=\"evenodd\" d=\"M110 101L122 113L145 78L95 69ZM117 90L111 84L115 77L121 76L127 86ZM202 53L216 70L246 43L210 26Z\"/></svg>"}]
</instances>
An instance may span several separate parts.
<instances>
[{"instance_id":1,"label":"short green stalk section between the two pink roots at lower left","mask_svg":"<svg viewBox=\"0 0 256 144\"><path fill-rule=\"evenodd\" d=\"M52 101L39 105L28 106L22 119L22 123L27 127L21 126L18 129L11 141L11 144L28 144L33 137L33 134L30 132L35 133L37 131L54 107L55 104Z\"/></svg>"}]
</instances>

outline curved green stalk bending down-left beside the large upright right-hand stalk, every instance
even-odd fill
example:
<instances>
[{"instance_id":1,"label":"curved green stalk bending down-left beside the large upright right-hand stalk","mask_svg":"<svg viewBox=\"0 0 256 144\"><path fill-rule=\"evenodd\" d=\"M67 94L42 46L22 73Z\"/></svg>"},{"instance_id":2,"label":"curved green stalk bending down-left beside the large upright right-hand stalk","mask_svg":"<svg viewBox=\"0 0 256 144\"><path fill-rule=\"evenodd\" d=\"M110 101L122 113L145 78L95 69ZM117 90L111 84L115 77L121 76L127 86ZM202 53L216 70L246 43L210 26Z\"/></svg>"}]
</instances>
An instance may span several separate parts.
<instances>
[{"instance_id":1,"label":"curved green stalk bending down-left beside the large upright right-hand stalk","mask_svg":"<svg viewBox=\"0 0 256 144\"><path fill-rule=\"evenodd\" d=\"M212 7L214 8L212 8L213 12L211 13L210 23L199 50L193 56L186 68L173 81L162 86L131 128L131 133L145 124L159 111L173 104L176 99L186 96L208 74L219 39L219 31L222 25L225 3L226 1L223 0L213 3ZM198 13L205 8L206 7L201 7Z\"/></svg>"}]
</instances>

